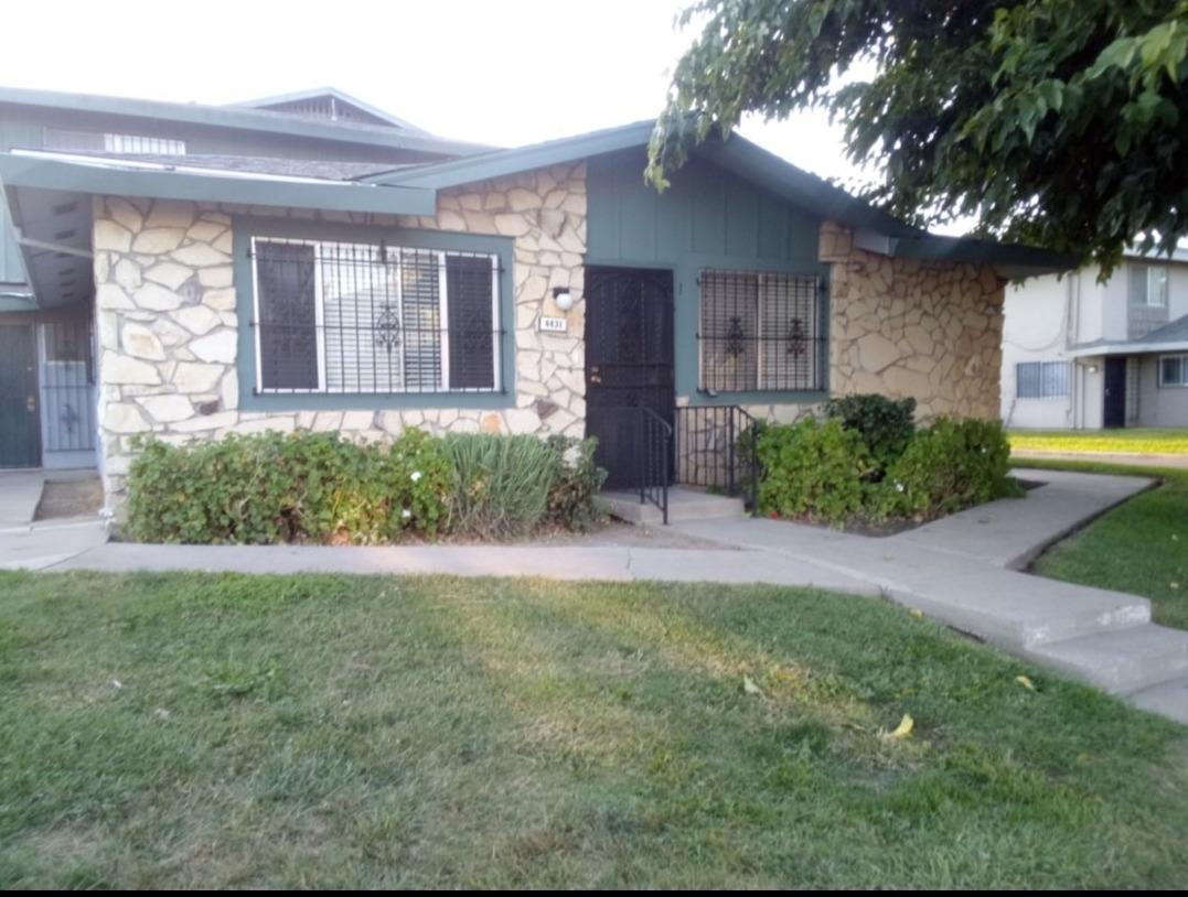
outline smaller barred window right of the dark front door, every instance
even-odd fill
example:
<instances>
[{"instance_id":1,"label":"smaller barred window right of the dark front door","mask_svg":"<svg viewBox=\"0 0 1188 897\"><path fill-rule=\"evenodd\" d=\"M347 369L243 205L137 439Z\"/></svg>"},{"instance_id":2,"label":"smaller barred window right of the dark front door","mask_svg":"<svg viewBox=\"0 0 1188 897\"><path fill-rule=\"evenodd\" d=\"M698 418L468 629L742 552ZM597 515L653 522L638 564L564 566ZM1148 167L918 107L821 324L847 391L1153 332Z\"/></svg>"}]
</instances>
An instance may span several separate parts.
<instances>
[{"instance_id":1,"label":"smaller barred window right of the dark front door","mask_svg":"<svg viewBox=\"0 0 1188 897\"><path fill-rule=\"evenodd\" d=\"M824 389L820 278L706 269L699 284L702 389Z\"/></svg>"}]
</instances>

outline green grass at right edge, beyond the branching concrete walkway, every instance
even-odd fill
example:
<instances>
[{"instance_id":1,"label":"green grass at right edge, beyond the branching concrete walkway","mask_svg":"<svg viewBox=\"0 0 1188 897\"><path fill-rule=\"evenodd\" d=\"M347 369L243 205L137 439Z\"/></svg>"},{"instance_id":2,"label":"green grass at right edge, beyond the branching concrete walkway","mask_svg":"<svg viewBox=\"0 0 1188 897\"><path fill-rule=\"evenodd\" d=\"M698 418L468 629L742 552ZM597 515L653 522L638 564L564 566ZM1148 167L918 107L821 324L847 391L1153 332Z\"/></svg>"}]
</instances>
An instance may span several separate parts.
<instances>
[{"instance_id":1,"label":"green grass at right edge, beyond the branching concrete walkway","mask_svg":"<svg viewBox=\"0 0 1188 897\"><path fill-rule=\"evenodd\" d=\"M1057 543L1037 573L1151 599L1156 623L1188 629L1188 470L1098 462L1038 462L1028 466L1130 473L1162 482Z\"/></svg>"}]
</instances>

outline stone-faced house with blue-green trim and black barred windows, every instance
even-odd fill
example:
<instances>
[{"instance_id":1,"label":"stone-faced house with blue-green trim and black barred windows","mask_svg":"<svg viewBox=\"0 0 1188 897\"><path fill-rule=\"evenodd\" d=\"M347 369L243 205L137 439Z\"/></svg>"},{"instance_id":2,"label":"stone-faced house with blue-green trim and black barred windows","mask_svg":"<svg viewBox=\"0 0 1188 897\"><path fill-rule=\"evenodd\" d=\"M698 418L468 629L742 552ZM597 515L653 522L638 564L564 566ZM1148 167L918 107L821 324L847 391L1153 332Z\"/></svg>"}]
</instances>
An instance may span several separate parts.
<instances>
[{"instance_id":1,"label":"stone-faced house with blue-green trim and black barred windows","mask_svg":"<svg viewBox=\"0 0 1188 897\"><path fill-rule=\"evenodd\" d=\"M998 413L1004 284L1068 260L739 136L658 195L651 129L491 150L329 89L0 90L0 465L95 465L118 511L140 434L421 426L595 435L637 488L733 476L751 416L829 395Z\"/></svg>"}]
</instances>

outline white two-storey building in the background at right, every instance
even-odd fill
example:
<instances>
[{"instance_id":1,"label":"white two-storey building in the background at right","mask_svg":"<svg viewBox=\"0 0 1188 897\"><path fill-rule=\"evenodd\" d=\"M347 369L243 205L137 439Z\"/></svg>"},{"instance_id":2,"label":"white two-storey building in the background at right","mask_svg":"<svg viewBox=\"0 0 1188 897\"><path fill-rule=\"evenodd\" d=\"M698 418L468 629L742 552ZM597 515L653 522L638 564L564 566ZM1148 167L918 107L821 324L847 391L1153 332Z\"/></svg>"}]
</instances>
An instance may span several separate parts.
<instances>
[{"instance_id":1,"label":"white two-storey building in the background at right","mask_svg":"<svg viewBox=\"0 0 1188 897\"><path fill-rule=\"evenodd\" d=\"M1005 308L1007 426L1188 426L1188 249L1012 285Z\"/></svg>"}]
</instances>

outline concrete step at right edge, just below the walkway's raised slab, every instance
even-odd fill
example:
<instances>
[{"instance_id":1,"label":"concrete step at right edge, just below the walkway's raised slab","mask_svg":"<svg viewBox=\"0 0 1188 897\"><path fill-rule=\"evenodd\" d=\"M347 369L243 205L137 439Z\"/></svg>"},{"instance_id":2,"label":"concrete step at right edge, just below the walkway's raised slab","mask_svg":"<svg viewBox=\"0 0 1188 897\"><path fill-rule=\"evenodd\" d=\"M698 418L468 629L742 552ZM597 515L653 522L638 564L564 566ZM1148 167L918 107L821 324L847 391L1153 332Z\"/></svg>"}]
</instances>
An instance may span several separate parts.
<instances>
[{"instance_id":1,"label":"concrete step at right edge, just below the walkway's raised slab","mask_svg":"<svg viewBox=\"0 0 1188 897\"><path fill-rule=\"evenodd\" d=\"M1188 676L1188 632L1152 624L1053 642L1030 654L1114 694Z\"/></svg>"}]
</instances>

